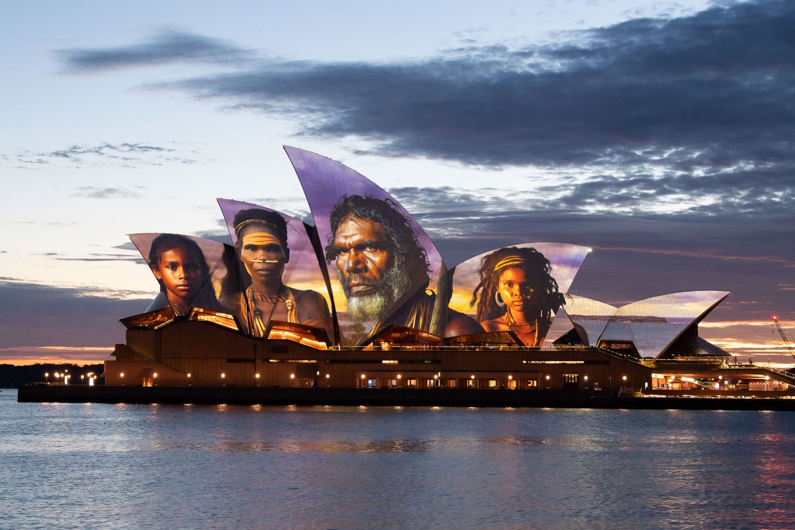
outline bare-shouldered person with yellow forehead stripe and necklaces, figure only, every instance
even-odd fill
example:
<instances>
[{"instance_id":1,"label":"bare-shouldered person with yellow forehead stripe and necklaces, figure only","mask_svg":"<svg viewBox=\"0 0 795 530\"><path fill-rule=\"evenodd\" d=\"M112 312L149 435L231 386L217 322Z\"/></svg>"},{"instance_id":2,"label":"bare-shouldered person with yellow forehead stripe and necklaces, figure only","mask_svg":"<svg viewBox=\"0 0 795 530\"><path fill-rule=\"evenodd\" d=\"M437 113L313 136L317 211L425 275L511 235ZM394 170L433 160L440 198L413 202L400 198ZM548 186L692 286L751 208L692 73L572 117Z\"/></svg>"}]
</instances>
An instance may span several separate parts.
<instances>
[{"instance_id":1,"label":"bare-shouldered person with yellow forehead stripe and necklaces, figure only","mask_svg":"<svg viewBox=\"0 0 795 530\"><path fill-rule=\"evenodd\" d=\"M238 317L249 335L265 336L268 323L277 320L321 327L333 338L332 317L323 295L282 283L290 260L285 219L275 211L250 208L238 211L233 224L235 252L251 284L238 295L239 300L224 300L224 305L239 308Z\"/></svg>"}]
</instances>

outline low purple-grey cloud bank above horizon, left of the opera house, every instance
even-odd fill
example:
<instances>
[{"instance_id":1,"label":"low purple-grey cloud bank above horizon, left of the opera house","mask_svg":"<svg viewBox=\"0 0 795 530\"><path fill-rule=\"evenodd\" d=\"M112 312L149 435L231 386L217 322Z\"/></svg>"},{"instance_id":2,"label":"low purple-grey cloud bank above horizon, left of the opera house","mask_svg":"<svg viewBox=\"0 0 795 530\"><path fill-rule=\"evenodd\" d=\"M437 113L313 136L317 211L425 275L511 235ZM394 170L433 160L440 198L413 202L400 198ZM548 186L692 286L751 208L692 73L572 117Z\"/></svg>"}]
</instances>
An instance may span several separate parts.
<instances>
[{"instance_id":1,"label":"low purple-grey cloud bank above horizon, left of the opera house","mask_svg":"<svg viewBox=\"0 0 795 530\"><path fill-rule=\"evenodd\" d=\"M142 313L156 292L106 292L0 279L0 344L4 347L113 346L123 342L117 322ZM120 300L120 296L139 296Z\"/></svg>"}]
</instances>

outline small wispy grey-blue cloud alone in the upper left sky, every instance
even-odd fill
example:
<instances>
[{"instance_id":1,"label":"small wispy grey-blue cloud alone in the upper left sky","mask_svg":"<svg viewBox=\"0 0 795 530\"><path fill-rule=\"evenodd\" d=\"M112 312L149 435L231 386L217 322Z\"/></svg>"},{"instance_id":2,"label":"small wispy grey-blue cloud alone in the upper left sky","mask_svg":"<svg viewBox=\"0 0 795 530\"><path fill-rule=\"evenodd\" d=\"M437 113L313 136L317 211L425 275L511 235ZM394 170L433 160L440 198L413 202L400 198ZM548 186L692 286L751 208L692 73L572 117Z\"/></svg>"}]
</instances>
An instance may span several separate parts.
<instances>
[{"instance_id":1,"label":"small wispy grey-blue cloud alone in the upper left sky","mask_svg":"<svg viewBox=\"0 0 795 530\"><path fill-rule=\"evenodd\" d=\"M176 61L227 62L249 52L211 37L165 30L148 42L114 48L57 50L67 72L99 72L115 68L166 64Z\"/></svg>"}]
</instances>

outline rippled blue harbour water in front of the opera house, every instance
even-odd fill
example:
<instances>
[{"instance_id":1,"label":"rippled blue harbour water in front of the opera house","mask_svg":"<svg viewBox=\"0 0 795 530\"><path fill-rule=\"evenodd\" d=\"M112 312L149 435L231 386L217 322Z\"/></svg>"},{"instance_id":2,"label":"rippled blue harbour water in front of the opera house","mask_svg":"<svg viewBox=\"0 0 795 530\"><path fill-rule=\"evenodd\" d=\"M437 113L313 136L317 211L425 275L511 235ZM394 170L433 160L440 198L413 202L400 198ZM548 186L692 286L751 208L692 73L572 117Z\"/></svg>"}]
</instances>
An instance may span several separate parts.
<instances>
[{"instance_id":1,"label":"rippled blue harbour water in front of the opera house","mask_svg":"<svg viewBox=\"0 0 795 530\"><path fill-rule=\"evenodd\" d=\"M0 434L0 528L795 520L795 415L786 412L86 407L17 404L4 389Z\"/></svg>"}]
</instances>

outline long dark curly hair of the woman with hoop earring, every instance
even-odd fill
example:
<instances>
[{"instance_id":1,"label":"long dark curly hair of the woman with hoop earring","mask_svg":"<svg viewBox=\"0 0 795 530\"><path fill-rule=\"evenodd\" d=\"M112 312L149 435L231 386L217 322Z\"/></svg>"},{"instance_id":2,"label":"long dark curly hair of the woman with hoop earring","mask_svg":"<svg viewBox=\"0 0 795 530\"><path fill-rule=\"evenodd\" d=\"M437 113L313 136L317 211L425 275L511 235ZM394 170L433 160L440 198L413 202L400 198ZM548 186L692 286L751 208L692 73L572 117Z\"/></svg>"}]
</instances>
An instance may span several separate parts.
<instances>
[{"instance_id":1,"label":"long dark curly hair of the woman with hoop earring","mask_svg":"<svg viewBox=\"0 0 795 530\"><path fill-rule=\"evenodd\" d=\"M475 319L478 322L493 320L505 314L506 308L499 307L494 300L495 293L498 292L499 277L505 267L497 271L494 267L508 256L521 257L524 263L520 265L510 265L525 271L525 277L529 281L530 288L533 289L533 296L530 298L531 306L525 309L525 318L528 321L533 319L551 320L561 305L565 304L564 296L557 291L557 282L549 273L552 272L552 265L544 254L532 247L519 248L508 246L483 256L480 260L478 274L480 283L472 291L472 300L469 305L478 303L478 311ZM480 292L480 300L478 300Z\"/></svg>"}]
</instances>

